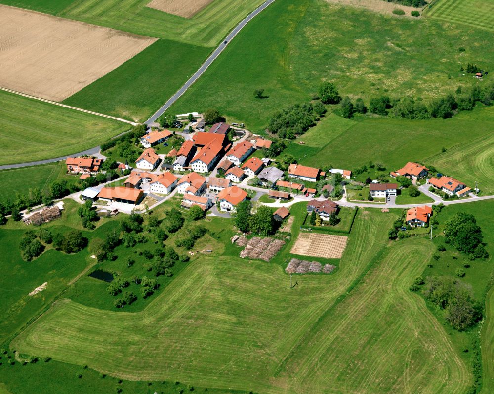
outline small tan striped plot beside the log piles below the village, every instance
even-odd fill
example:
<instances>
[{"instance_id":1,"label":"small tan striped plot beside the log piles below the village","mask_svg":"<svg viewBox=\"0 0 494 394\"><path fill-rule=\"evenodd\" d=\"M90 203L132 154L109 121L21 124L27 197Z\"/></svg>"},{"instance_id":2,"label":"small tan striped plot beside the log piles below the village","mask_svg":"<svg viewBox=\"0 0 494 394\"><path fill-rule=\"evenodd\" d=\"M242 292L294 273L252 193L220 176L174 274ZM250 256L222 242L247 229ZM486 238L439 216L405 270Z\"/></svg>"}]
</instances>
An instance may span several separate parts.
<instances>
[{"instance_id":1,"label":"small tan striped plot beside the log piles below the village","mask_svg":"<svg viewBox=\"0 0 494 394\"><path fill-rule=\"evenodd\" d=\"M341 258L348 237L317 233L301 233L290 253L301 256Z\"/></svg>"}]
</instances>

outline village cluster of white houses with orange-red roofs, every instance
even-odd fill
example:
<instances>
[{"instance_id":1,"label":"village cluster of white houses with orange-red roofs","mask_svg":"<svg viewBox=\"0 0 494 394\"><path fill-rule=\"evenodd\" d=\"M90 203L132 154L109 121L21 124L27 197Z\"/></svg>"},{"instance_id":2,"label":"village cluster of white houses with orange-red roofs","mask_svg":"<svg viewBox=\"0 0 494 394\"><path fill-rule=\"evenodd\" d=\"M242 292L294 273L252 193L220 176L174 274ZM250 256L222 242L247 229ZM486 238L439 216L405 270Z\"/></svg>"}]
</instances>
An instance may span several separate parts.
<instances>
[{"instance_id":1,"label":"village cluster of white houses with orange-red roofs","mask_svg":"<svg viewBox=\"0 0 494 394\"><path fill-rule=\"evenodd\" d=\"M186 124L184 131L149 128L139 139L143 150L135 163L118 163L118 185L114 181L108 182L111 186L102 184L86 188L80 192L81 202L91 200L95 206L102 204L109 211L130 213L143 212L171 196L180 195L184 209L199 206L208 215L229 217L240 202L257 201L266 194L271 206L280 207L273 214L276 220L283 221L289 215L287 202L305 200L308 214L316 212L320 218L318 225L324 226L329 225L331 214L338 214L340 205L355 207L365 202L371 206L395 207L395 200L404 189L400 182L376 179L368 179L368 184L358 182L347 169L323 171L288 163L288 169L284 171L283 166L269 157L273 143L269 139L226 122L209 127L200 114L196 116L197 119ZM183 139L177 149L170 149L166 154L157 153L160 145L168 146L167 141L176 135ZM101 172L103 160L104 156L68 158L67 172L87 179ZM473 197L478 192L451 176L432 175L422 164L404 164L403 168L391 171L389 177L407 178L435 202L448 196ZM321 184L318 189L317 185ZM342 194L334 194L339 185ZM353 185L364 187L366 197L355 198L351 194ZM407 212L406 223L414 227L426 226L431 215L431 206L413 207Z\"/></svg>"}]
</instances>

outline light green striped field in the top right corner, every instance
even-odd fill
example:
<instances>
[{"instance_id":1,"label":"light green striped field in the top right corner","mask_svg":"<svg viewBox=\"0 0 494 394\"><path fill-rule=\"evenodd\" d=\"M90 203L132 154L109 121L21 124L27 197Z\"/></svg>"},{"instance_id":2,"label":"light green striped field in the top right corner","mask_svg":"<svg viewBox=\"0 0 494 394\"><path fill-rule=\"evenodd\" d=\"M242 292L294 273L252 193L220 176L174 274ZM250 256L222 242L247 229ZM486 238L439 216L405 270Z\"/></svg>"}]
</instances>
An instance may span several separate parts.
<instances>
[{"instance_id":1,"label":"light green striped field in the top right corner","mask_svg":"<svg viewBox=\"0 0 494 394\"><path fill-rule=\"evenodd\" d=\"M439 0L425 15L449 23L459 23L494 32L493 0Z\"/></svg>"}]
</instances>

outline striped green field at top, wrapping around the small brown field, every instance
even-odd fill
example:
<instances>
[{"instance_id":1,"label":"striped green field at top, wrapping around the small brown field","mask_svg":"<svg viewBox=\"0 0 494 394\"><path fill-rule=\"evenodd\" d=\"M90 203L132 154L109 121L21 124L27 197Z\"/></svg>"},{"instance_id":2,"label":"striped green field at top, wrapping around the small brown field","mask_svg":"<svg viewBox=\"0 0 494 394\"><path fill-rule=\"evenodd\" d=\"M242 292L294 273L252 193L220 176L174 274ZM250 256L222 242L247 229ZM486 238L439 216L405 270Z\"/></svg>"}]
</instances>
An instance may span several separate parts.
<instances>
[{"instance_id":1,"label":"striped green field at top, wrapping around the small brown field","mask_svg":"<svg viewBox=\"0 0 494 394\"><path fill-rule=\"evenodd\" d=\"M148 8L150 0L57 0L49 6L41 0L0 2L143 36L212 47L264 1L216 0L190 19Z\"/></svg>"}]
</instances>

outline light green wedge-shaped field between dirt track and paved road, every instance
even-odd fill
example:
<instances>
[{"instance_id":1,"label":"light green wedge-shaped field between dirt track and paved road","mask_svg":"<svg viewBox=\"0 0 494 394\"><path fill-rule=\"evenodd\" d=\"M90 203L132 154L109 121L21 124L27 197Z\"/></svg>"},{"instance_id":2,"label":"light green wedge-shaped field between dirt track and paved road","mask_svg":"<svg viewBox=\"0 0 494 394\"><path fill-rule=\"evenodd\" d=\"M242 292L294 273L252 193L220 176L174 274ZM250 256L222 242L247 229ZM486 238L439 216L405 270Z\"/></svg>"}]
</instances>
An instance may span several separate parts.
<instances>
[{"instance_id":1,"label":"light green wedge-shaped field between dirt track and paved road","mask_svg":"<svg viewBox=\"0 0 494 394\"><path fill-rule=\"evenodd\" d=\"M129 125L0 91L0 165L69 155L91 148ZM18 142L13 142L19 138ZM12 141L11 143L6 143Z\"/></svg>"}]
</instances>

